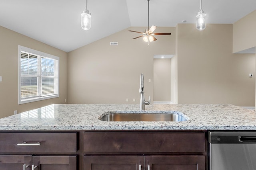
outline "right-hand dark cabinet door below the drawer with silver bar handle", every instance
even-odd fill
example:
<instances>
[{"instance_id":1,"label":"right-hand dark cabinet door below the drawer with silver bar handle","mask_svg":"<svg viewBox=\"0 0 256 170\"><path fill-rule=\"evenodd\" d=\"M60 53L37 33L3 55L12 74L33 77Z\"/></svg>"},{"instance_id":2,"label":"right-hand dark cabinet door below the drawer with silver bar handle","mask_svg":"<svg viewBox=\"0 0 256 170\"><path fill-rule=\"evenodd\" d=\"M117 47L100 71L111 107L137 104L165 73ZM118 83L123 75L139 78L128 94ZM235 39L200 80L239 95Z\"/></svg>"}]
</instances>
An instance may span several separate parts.
<instances>
[{"instance_id":1,"label":"right-hand dark cabinet door below the drawer with silver bar handle","mask_svg":"<svg viewBox=\"0 0 256 170\"><path fill-rule=\"evenodd\" d=\"M35 170L76 170L76 156L32 156Z\"/></svg>"}]
</instances>

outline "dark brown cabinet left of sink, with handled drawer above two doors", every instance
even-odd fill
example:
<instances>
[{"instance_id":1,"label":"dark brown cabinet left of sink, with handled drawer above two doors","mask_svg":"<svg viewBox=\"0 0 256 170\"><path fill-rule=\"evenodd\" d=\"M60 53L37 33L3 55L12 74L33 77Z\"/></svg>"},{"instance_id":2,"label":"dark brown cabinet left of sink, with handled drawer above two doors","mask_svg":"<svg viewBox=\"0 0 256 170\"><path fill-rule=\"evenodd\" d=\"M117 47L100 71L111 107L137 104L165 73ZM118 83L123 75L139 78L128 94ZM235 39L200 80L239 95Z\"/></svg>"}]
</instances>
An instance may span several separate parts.
<instances>
[{"instance_id":1,"label":"dark brown cabinet left of sink, with handled drawer above two doors","mask_svg":"<svg viewBox=\"0 0 256 170\"><path fill-rule=\"evenodd\" d=\"M78 170L77 132L0 133L0 170Z\"/></svg>"}]
</instances>

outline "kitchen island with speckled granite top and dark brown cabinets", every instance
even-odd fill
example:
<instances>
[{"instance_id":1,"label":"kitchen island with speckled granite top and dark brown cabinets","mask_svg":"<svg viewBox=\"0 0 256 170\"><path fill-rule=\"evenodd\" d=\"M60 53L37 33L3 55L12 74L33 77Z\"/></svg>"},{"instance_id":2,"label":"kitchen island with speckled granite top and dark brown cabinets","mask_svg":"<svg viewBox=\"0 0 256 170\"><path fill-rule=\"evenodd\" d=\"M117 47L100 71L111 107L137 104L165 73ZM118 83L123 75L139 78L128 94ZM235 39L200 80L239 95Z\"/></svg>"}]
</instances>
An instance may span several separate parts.
<instances>
[{"instance_id":1,"label":"kitchen island with speckled granite top and dark brown cabinets","mask_svg":"<svg viewBox=\"0 0 256 170\"><path fill-rule=\"evenodd\" d=\"M256 130L234 105L150 105L187 121L101 121L139 105L53 104L0 119L1 170L207 170L208 130Z\"/></svg>"}]
</instances>

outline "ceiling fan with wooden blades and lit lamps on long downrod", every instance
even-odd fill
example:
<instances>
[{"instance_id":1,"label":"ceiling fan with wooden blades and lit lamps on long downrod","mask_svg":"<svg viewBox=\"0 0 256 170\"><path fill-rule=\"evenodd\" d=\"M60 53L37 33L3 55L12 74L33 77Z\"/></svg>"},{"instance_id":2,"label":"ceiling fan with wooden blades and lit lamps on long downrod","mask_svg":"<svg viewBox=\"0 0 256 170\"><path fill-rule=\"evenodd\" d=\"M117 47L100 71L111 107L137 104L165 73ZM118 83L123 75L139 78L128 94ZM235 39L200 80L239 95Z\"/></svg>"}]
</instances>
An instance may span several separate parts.
<instances>
[{"instance_id":1,"label":"ceiling fan with wooden blades and lit lamps on long downrod","mask_svg":"<svg viewBox=\"0 0 256 170\"><path fill-rule=\"evenodd\" d=\"M148 29L145 29L142 32L138 32L138 31L132 31L132 30L128 30L128 31L131 31L131 32L135 32L135 33L142 33L143 35L140 35L138 37L135 37L133 39L137 39L139 37L143 37L143 40L145 42L148 42L148 45L149 45L149 42L151 41L156 41L156 38L153 36L153 35L171 35L171 33L154 33L154 31L156 30L156 27L155 25L152 25L149 29L149 1L150 0L147 0L148 1Z\"/></svg>"}]
</instances>

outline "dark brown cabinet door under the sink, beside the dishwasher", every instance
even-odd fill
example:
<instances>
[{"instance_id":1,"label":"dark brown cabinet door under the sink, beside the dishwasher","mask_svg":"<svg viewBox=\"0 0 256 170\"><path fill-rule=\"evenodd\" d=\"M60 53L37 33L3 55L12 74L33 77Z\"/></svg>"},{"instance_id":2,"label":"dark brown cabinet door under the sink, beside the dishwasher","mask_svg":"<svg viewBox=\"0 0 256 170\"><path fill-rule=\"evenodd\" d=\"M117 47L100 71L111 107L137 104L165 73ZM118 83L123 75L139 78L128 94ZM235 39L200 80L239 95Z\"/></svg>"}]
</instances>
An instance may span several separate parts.
<instances>
[{"instance_id":1,"label":"dark brown cabinet door under the sink, beside the dishwasher","mask_svg":"<svg viewBox=\"0 0 256 170\"><path fill-rule=\"evenodd\" d=\"M145 170L205 170L205 156L145 156Z\"/></svg>"}]
</instances>

